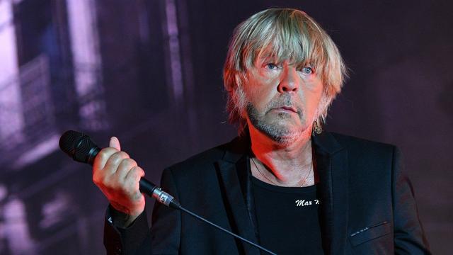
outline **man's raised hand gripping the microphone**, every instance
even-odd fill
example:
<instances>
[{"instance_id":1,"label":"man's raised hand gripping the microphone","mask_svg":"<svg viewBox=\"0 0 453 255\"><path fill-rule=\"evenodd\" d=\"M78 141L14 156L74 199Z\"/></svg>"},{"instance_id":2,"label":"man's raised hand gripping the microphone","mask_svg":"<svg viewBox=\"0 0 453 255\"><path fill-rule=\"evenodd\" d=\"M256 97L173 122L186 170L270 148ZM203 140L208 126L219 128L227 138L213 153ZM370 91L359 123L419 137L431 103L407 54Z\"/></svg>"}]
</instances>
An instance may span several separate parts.
<instances>
[{"instance_id":1,"label":"man's raised hand gripping the microphone","mask_svg":"<svg viewBox=\"0 0 453 255\"><path fill-rule=\"evenodd\" d=\"M110 138L110 147L101 149L93 164L93 182L116 210L125 213L126 226L144 211L144 196L139 191L144 171L121 151L120 141Z\"/></svg>"}]
</instances>

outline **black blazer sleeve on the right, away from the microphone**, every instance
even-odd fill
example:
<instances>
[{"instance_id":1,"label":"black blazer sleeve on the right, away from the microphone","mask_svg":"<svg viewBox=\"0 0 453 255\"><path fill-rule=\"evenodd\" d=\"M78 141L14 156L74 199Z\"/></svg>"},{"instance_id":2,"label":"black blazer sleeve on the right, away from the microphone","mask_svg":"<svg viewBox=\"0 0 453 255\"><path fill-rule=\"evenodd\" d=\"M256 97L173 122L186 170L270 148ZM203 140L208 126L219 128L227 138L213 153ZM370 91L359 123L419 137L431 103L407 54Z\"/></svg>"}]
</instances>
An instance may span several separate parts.
<instances>
[{"instance_id":1,"label":"black blazer sleeve on the right, away from the microphone","mask_svg":"<svg viewBox=\"0 0 453 255\"><path fill-rule=\"evenodd\" d=\"M396 147L392 162L395 254L430 254L418 217L413 187L403 172L401 152Z\"/></svg>"}]
</instances>

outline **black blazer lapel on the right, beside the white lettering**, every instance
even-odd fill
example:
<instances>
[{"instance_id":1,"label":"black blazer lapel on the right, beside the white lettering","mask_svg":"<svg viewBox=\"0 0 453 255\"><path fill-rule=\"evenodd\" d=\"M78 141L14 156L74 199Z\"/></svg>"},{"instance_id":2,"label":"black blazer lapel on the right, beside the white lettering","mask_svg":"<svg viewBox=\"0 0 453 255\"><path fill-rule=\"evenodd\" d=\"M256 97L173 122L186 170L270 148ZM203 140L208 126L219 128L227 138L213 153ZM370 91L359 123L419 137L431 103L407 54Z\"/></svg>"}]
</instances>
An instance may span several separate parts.
<instances>
[{"instance_id":1,"label":"black blazer lapel on the right, beside the white lettering","mask_svg":"<svg viewBox=\"0 0 453 255\"><path fill-rule=\"evenodd\" d=\"M348 233L348 152L328 132L313 137L326 254L345 254Z\"/></svg>"}]
</instances>

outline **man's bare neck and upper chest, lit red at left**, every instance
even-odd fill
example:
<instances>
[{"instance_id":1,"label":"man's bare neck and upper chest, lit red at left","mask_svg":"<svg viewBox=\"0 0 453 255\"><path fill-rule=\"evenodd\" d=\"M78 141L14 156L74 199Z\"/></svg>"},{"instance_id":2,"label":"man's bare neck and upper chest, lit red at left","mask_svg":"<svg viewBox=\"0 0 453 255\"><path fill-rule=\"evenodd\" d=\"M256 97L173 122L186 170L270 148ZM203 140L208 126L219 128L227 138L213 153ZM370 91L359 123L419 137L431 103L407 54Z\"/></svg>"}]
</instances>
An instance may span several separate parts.
<instances>
[{"instance_id":1,"label":"man's bare neck and upper chest, lit red at left","mask_svg":"<svg viewBox=\"0 0 453 255\"><path fill-rule=\"evenodd\" d=\"M310 186L314 184L311 154L311 128L296 140L279 144L249 125L252 174L261 181L278 186Z\"/></svg>"}]
</instances>

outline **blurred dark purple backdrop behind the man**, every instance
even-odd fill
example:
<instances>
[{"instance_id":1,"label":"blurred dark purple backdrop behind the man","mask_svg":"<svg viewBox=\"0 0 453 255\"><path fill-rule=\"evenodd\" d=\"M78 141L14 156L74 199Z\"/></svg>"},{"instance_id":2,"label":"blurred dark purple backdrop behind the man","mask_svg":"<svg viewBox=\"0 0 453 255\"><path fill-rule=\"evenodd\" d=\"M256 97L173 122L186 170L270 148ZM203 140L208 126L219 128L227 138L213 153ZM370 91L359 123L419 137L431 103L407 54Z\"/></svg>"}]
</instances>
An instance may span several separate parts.
<instances>
[{"instance_id":1,"label":"blurred dark purple backdrop behind the man","mask_svg":"<svg viewBox=\"0 0 453 255\"><path fill-rule=\"evenodd\" d=\"M0 254L104 254L107 201L64 130L162 169L236 135L222 64L273 6L319 21L351 69L326 130L401 147L434 254L453 239L451 1L0 0ZM154 201L147 200L147 210Z\"/></svg>"}]
</instances>

